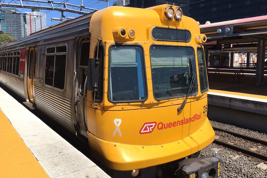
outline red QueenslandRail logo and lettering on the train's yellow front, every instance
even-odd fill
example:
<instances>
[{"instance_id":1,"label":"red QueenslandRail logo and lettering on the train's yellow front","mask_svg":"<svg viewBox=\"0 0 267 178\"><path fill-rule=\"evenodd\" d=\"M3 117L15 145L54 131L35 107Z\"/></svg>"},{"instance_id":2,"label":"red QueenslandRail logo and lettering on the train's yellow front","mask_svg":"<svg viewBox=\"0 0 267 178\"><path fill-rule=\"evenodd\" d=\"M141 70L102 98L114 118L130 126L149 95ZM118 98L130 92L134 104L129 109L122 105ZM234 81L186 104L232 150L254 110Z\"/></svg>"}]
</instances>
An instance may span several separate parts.
<instances>
[{"instance_id":1,"label":"red QueenslandRail logo and lettering on the train's yellow front","mask_svg":"<svg viewBox=\"0 0 267 178\"><path fill-rule=\"evenodd\" d=\"M184 125L184 124L189 124L191 122L194 122L196 120L201 119L201 114L202 113L195 114L195 115L193 115L193 117L184 118L182 120L177 120L177 121L173 121L173 122L169 122L169 123L168 122L167 123L159 122L157 124L156 122L146 122L143 124L139 133L140 134L151 133L151 132L153 132L153 130L155 128L157 128L158 130L162 130L162 129L172 128L172 127L177 127L177 126Z\"/></svg>"}]
</instances>

